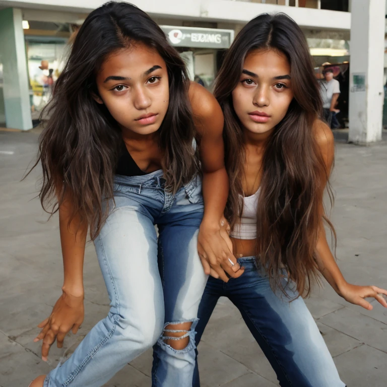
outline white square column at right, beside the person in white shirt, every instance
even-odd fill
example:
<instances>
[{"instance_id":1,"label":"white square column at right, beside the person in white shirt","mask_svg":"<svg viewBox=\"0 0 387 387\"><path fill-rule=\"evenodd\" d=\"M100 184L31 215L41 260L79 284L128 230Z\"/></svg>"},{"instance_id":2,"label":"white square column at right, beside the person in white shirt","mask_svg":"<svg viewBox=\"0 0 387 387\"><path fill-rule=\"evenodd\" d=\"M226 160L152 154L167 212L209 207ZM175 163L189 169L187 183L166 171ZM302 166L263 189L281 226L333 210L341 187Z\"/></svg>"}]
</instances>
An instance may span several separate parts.
<instances>
[{"instance_id":1,"label":"white square column at right, beside the person in white shirt","mask_svg":"<svg viewBox=\"0 0 387 387\"><path fill-rule=\"evenodd\" d=\"M349 141L381 140L385 2L352 0Z\"/></svg>"}]
</instances>

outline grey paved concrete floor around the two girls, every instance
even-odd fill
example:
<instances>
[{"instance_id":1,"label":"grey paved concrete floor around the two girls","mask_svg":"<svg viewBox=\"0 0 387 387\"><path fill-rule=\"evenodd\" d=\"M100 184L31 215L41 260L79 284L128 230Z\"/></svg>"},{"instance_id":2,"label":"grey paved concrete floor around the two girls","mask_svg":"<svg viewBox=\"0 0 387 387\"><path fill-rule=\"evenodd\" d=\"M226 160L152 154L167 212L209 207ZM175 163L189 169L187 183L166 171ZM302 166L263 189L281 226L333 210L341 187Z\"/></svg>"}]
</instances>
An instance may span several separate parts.
<instances>
[{"instance_id":1,"label":"grey paved concrete floor around the two girls","mask_svg":"<svg viewBox=\"0 0 387 387\"><path fill-rule=\"evenodd\" d=\"M39 332L36 325L60 294L62 263L57 217L47 222L36 199L39 170L20 181L36 155L37 138L34 133L0 132L0 387L27 387L71 353L108 310L94 247L88 244L83 327L65 339L63 349L52 347L47 363L40 359L40 344L32 340ZM332 183L337 256L345 277L356 284L387 287L387 144L356 147L338 142ZM348 304L328 285L306 302L342 380L349 387L384 387L387 310L375 302L370 312ZM239 312L226 299L217 305L199 349L203 387L278 385ZM106 386L149 387L150 372L147 352Z\"/></svg>"}]
</instances>

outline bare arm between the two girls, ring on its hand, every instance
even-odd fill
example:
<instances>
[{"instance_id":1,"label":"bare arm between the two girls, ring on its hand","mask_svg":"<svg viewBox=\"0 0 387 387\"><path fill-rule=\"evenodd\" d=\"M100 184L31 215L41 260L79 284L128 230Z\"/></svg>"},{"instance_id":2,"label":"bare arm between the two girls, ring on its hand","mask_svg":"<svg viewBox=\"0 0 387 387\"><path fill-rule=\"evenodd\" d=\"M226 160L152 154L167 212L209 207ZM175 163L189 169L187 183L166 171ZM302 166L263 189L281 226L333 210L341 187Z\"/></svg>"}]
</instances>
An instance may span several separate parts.
<instances>
[{"instance_id":1,"label":"bare arm between the two girls, ring on its hand","mask_svg":"<svg viewBox=\"0 0 387 387\"><path fill-rule=\"evenodd\" d=\"M227 282L225 271L234 278L239 277L243 271L232 254L232 244L228 236L227 241L221 236L221 222L229 188L224 165L223 113L215 97L203 86L191 83L189 97L198 132L197 141L203 171L205 207L198 237L199 253L206 274L220 277Z\"/></svg>"}]
</instances>

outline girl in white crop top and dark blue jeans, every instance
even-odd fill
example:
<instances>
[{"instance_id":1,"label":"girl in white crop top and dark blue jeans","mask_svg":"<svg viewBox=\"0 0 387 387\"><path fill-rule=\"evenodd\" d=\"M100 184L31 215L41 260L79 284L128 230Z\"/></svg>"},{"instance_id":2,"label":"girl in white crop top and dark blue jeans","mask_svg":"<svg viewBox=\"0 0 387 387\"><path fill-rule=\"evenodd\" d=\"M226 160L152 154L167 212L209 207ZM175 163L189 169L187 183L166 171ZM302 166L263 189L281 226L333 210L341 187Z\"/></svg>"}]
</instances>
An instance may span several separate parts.
<instances>
[{"instance_id":1,"label":"girl in white crop top and dark blue jeans","mask_svg":"<svg viewBox=\"0 0 387 387\"><path fill-rule=\"evenodd\" d=\"M208 280L196 344L214 307L228 297L277 373L282 387L345 384L300 296L322 274L336 292L368 310L375 286L345 281L327 243L322 196L334 139L318 120L321 101L308 46L284 14L260 15L238 34L214 91L225 118L230 193L225 216L244 273ZM202 255L205 252L200 251ZM193 386L198 387L196 372Z\"/></svg>"}]
</instances>

